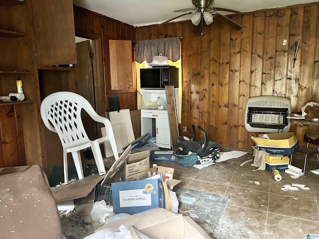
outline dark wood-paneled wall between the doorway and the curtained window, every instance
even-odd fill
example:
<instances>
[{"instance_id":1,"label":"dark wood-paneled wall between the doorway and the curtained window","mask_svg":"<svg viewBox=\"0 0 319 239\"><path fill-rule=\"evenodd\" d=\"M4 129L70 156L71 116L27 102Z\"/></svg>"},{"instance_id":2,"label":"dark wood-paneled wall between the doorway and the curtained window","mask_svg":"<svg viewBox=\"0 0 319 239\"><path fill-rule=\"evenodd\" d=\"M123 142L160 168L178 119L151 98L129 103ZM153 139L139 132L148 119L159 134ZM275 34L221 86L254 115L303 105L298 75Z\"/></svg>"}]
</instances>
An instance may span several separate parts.
<instances>
[{"instance_id":1,"label":"dark wood-paneled wall between the doorway and the curtained window","mask_svg":"<svg viewBox=\"0 0 319 239\"><path fill-rule=\"evenodd\" d=\"M73 5L75 34L76 36L95 40L95 48L101 49L103 54L96 54L101 57L101 64L97 65L98 72L95 74L95 96L99 104L96 111L105 115L108 111L107 99L111 96L118 96L121 109L137 110L137 92L112 91L110 74L109 40L135 40L135 28L115 19L100 15L85 8ZM99 44L98 46L96 44ZM102 70L99 73L99 70Z\"/></svg>"}]
</instances>

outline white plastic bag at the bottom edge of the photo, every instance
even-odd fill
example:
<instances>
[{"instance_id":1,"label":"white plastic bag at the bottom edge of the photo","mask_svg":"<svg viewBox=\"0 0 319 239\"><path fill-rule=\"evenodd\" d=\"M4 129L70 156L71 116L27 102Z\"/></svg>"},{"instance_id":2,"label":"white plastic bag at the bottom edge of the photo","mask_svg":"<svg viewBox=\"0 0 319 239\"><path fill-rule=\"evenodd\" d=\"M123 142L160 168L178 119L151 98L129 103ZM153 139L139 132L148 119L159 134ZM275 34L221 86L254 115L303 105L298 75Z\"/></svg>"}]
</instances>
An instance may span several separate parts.
<instances>
[{"instance_id":1,"label":"white plastic bag at the bottom edge of the photo","mask_svg":"<svg viewBox=\"0 0 319 239\"><path fill-rule=\"evenodd\" d=\"M127 227L121 225L119 229L106 228L93 233L84 239L132 239L131 233Z\"/></svg>"}]
</instances>

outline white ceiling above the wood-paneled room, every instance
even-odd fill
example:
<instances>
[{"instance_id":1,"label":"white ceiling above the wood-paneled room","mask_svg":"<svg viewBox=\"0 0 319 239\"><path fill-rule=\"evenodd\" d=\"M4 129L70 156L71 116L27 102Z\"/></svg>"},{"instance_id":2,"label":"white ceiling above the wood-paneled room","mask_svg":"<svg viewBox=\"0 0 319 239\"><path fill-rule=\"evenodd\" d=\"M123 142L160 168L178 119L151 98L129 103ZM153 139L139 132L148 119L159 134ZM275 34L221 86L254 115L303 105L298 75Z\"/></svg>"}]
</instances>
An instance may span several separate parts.
<instances>
[{"instance_id":1,"label":"white ceiling above the wood-paneled room","mask_svg":"<svg viewBox=\"0 0 319 239\"><path fill-rule=\"evenodd\" d=\"M214 0L214 7L248 12L266 8L318 2L316 0ZM164 22L183 12L181 8L194 8L191 0L73 0L73 4L111 17L133 26L146 26ZM229 12L220 12L229 14ZM174 21L190 19L190 15Z\"/></svg>"}]
</instances>

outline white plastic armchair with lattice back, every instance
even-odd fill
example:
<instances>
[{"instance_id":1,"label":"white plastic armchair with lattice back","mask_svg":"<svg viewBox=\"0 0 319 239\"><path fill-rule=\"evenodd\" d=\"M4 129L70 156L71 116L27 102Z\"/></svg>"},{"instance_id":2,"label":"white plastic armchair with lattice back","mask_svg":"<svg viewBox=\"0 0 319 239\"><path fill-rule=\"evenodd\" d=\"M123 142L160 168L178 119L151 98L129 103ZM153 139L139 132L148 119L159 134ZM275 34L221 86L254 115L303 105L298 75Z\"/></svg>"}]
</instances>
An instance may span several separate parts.
<instances>
[{"instance_id":1,"label":"white plastic armchair with lattice back","mask_svg":"<svg viewBox=\"0 0 319 239\"><path fill-rule=\"evenodd\" d=\"M95 121L105 125L106 136L90 140L85 132L81 110ZM80 150L91 147L99 174L106 173L100 144L110 141L117 160L119 158L112 125L109 119L99 116L82 96L72 92L56 92L41 103L40 113L45 126L59 135L63 147L64 182L68 183L67 153L71 153L79 179L84 177Z\"/></svg>"}]
</instances>

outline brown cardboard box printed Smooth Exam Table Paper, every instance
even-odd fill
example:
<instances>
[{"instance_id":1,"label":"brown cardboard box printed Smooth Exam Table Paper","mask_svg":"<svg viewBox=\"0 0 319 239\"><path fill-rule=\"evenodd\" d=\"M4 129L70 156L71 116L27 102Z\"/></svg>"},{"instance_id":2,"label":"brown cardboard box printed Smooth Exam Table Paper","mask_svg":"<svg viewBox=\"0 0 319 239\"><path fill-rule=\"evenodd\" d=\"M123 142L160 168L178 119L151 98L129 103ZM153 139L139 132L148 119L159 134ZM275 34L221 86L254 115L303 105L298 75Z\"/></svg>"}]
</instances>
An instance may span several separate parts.
<instances>
[{"instance_id":1,"label":"brown cardboard box printed Smooth Exam Table Paper","mask_svg":"<svg viewBox=\"0 0 319 239\"><path fill-rule=\"evenodd\" d=\"M125 162L125 181L142 180L150 169L150 151L132 153Z\"/></svg>"}]
</instances>

